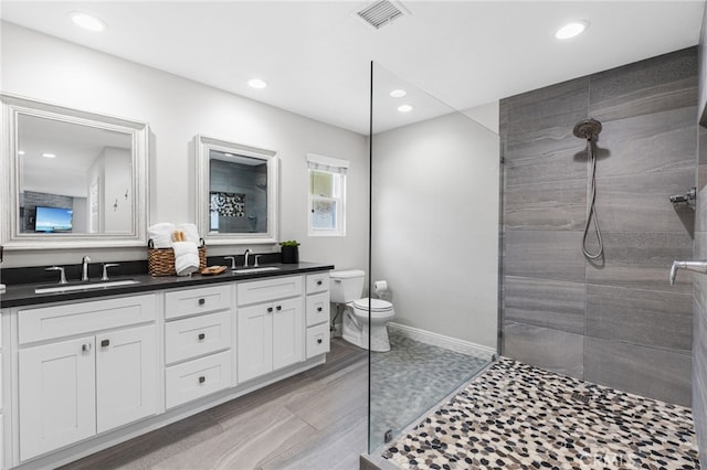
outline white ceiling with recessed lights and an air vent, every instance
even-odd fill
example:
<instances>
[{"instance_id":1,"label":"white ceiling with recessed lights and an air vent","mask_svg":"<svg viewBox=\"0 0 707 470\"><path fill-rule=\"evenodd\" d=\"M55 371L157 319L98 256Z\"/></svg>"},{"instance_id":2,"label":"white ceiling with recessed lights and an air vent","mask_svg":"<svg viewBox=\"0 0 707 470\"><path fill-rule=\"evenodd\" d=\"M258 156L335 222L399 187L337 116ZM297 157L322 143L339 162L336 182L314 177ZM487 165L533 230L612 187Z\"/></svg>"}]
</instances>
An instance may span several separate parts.
<instances>
[{"instance_id":1,"label":"white ceiling with recessed lights and an air vent","mask_svg":"<svg viewBox=\"0 0 707 470\"><path fill-rule=\"evenodd\" d=\"M443 103L466 109L695 45L705 1L408 0L402 4L410 14L380 30L352 14L366 4L2 0L0 15L367 135L371 60ZM80 30L70 11L93 13L108 29ZM584 34L555 39L560 25L577 19L591 23ZM245 82L255 76L270 86L247 87ZM428 105L413 99L401 99L415 106L403 117L407 121L439 113L439 106L426 110ZM381 125L395 126L392 120Z\"/></svg>"}]
</instances>

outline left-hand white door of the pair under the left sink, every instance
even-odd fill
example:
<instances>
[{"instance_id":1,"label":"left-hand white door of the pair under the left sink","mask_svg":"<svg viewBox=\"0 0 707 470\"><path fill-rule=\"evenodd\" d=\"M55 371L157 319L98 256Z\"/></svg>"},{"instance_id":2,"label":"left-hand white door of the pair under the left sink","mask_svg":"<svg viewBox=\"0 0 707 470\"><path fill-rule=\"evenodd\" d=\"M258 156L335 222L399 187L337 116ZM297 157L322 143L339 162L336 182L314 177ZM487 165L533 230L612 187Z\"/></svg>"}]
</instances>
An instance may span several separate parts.
<instances>
[{"instance_id":1,"label":"left-hand white door of the pair under the left sink","mask_svg":"<svg viewBox=\"0 0 707 470\"><path fill-rule=\"evenodd\" d=\"M96 434L94 338L19 352L20 460Z\"/></svg>"}]
</instances>

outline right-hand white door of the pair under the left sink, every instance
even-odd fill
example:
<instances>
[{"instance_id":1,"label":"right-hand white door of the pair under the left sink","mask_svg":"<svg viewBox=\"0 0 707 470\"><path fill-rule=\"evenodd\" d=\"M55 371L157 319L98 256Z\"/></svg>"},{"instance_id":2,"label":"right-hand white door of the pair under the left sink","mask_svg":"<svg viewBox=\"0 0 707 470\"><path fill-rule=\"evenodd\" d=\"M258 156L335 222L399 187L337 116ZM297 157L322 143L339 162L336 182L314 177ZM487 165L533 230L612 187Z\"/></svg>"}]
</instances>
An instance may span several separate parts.
<instances>
[{"instance_id":1,"label":"right-hand white door of the pair under the left sink","mask_svg":"<svg viewBox=\"0 0 707 470\"><path fill-rule=\"evenodd\" d=\"M157 331L154 324L96 337L98 432L157 412Z\"/></svg>"}]
</instances>

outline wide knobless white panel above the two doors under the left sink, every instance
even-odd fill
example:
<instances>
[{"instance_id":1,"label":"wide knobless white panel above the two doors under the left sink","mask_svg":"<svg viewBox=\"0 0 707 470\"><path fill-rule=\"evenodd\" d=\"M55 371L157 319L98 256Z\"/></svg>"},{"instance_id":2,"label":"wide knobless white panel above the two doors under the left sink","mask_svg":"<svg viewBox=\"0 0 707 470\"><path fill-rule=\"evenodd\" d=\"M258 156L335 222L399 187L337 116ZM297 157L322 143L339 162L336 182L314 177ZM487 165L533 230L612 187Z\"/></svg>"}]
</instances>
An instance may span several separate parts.
<instances>
[{"instance_id":1,"label":"wide knobless white panel above the two doors under the left sink","mask_svg":"<svg viewBox=\"0 0 707 470\"><path fill-rule=\"evenodd\" d=\"M156 318L157 298L151 293L28 309L18 313L19 340L24 344L155 321Z\"/></svg>"}]
</instances>

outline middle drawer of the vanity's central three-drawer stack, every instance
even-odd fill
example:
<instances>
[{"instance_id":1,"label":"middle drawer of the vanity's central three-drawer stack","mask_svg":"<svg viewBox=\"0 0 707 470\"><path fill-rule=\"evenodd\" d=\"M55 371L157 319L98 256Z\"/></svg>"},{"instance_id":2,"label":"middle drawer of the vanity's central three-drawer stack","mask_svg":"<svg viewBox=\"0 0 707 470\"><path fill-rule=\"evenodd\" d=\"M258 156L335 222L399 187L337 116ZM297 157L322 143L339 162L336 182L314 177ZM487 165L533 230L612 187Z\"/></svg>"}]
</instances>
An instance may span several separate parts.
<instances>
[{"instance_id":1,"label":"middle drawer of the vanity's central three-drawer stack","mask_svg":"<svg viewBox=\"0 0 707 470\"><path fill-rule=\"evenodd\" d=\"M170 321L165 325L165 361L197 357L231 348L231 311Z\"/></svg>"}]
</instances>

